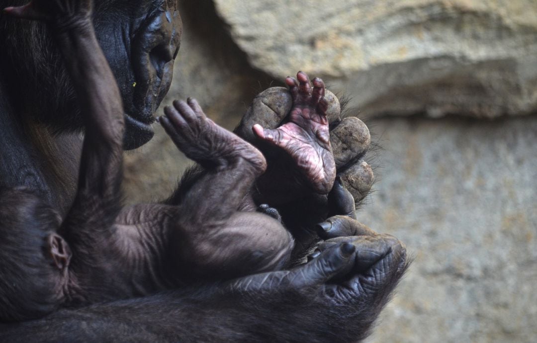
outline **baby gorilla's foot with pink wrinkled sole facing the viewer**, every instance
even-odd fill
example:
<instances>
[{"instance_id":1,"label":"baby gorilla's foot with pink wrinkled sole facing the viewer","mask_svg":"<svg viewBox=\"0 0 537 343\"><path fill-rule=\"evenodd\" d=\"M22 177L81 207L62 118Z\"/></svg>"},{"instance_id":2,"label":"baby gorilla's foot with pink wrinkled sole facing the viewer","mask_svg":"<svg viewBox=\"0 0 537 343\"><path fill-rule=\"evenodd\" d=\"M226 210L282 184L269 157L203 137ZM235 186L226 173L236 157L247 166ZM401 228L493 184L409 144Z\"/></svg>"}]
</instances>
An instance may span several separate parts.
<instances>
[{"instance_id":1,"label":"baby gorilla's foot with pink wrinkled sole facing the viewer","mask_svg":"<svg viewBox=\"0 0 537 343\"><path fill-rule=\"evenodd\" d=\"M306 73L299 72L296 79L285 80L293 97L288 122L277 129L263 129L253 125L253 132L261 139L284 149L299 167L309 187L326 194L332 189L336 165L330 146L330 133L324 98L324 83L313 79L313 90Z\"/></svg>"}]
</instances>

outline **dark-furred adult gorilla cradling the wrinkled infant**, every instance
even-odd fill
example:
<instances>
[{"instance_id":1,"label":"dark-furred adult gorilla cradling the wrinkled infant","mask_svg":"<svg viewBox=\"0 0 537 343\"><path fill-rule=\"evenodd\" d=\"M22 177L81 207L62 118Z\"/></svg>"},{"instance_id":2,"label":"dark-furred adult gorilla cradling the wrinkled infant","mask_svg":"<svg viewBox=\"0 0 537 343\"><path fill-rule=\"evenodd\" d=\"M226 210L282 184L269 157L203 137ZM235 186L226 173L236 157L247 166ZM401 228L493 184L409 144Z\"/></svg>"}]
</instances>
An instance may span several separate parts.
<instances>
[{"instance_id":1,"label":"dark-furred adult gorilla cradling the wrinkled infant","mask_svg":"<svg viewBox=\"0 0 537 343\"><path fill-rule=\"evenodd\" d=\"M2 7L7 5L18 4L0 2ZM180 39L175 4L100 1L96 3L95 27L124 98L128 123L125 146L139 146L153 135L149 124L169 86L172 57ZM2 186L31 189L64 214L76 188L80 154L77 131L82 120L77 99L45 27L18 24L2 17L0 28ZM25 63L19 65L20 61ZM281 113L285 110L272 111L269 121L279 123ZM255 107L241 128L252 118L256 118ZM267 117L259 118L260 122L265 120ZM333 126L342 123L336 118ZM341 131L348 131L352 125L347 123L342 127L347 130ZM355 149L360 144L352 141L345 144L343 136L335 137L345 147L336 154L339 171L347 170L347 179L352 178L349 170L355 169L352 166L366 149ZM281 170L275 168L272 173L276 177ZM335 192L345 195L345 190L338 187L339 184ZM259 189L267 187L260 184ZM263 197L263 191L258 197ZM325 197L304 194L295 196L286 205L304 210L306 207L301 206L304 198L314 199L307 211L316 215L308 220L300 217L305 212L286 216L288 225L301 233L297 237L304 244L313 237L308 230L311 220L325 219L329 208L352 210L348 202L330 204ZM274 201L283 205L282 199L287 196ZM173 197L170 201L173 202ZM0 204L3 207L0 210L16 211L11 205ZM5 233L9 227L0 223L0 230ZM333 217L321 225L320 231L324 238L333 239L320 244L313 261L290 271L185 287L144 299L61 310L34 322L2 324L0 337L3 340L360 339L404 272L405 249L395 238L377 235L350 217Z\"/></svg>"}]
</instances>

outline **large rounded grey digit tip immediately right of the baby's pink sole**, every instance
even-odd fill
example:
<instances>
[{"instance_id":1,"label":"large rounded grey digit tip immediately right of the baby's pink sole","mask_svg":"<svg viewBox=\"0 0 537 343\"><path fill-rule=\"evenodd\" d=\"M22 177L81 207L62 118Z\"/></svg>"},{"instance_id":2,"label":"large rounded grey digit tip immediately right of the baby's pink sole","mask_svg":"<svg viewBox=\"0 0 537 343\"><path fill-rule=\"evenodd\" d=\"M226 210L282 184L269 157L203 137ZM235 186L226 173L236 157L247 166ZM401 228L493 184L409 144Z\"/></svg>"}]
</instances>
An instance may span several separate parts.
<instances>
[{"instance_id":1,"label":"large rounded grey digit tip immediately right of the baby's pink sole","mask_svg":"<svg viewBox=\"0 0 537 343\"><path fill-rule=\"evenodd\" d=\"M357 117L347 117L330 131L330 144L336 168L341 168L369 150L371 135L364 122Z\"/></svg>"}]
</instances>

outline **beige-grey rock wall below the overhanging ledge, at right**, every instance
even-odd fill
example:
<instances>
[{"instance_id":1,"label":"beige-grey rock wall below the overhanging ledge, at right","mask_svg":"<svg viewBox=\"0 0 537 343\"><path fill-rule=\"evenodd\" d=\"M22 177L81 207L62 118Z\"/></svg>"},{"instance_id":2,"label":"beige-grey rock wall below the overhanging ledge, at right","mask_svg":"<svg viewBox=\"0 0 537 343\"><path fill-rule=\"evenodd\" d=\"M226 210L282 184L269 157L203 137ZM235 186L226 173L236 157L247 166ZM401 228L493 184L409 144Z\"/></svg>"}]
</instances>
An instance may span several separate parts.
<instances>
[{"instance_id":1,"label":"beige-grey rock wall below the overhanging ledge, at right","mask_svg":"<svg viewBox=\"0 0 537 343\"><path fill-rule=\"evenodd\" d=\"M358 218L416 260L367 341L535 342L537 117L368 124L382 168Z\"/></svg>"}]
</instances>

